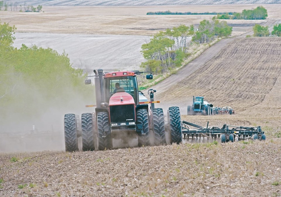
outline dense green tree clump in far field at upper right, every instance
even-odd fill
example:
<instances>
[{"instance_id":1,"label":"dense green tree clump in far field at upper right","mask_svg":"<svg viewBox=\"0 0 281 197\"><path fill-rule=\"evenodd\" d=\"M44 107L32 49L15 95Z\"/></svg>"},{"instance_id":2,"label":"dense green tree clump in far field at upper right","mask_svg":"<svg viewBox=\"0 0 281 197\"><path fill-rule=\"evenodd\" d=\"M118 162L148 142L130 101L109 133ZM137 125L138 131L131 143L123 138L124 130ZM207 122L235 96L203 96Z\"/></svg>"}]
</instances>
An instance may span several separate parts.
<instances>
[{"instance_id":1,"label":"dense green tree clump in far field at upper right","mask_svg":"<svg viewBox=\"0 0 281 197\"><path fill-rule=\"evenodd\" d=\"M244 9L241 13L234 12L232 14L223 13L217 14L217 19L244 19L244 20L263 20L267 17L267 10L263 6L258 6L255 9Z\"/></svg>"}]
</instances>

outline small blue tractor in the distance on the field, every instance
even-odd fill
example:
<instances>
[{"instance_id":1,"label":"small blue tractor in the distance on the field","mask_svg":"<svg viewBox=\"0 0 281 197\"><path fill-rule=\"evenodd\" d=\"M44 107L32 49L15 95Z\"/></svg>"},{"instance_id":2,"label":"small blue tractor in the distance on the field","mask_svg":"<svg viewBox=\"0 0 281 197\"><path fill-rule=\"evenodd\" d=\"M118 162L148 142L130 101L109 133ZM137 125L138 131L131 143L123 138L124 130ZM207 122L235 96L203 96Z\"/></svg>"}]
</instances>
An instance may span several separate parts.
<instances>
[{"instance_id":1,"label":"small blue tractor in the distance on the field","mask_svg":"<svg viewBox=\"0 0 281 197\"><path fill-rule=\"evenodd\" d=\"M208 115L213 113L213 105L204 101L204 97L193 96L192 106L187 106L187 115Z\"/></svg>"}]
</instances>

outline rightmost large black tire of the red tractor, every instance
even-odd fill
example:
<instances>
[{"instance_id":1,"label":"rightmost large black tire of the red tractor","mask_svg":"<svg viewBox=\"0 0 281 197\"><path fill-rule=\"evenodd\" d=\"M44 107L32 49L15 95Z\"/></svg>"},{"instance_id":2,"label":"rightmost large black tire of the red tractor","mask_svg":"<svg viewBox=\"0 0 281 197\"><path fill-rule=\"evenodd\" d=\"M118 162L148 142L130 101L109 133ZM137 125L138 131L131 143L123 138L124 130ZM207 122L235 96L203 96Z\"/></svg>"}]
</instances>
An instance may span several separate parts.
<instances>
[{"instance_id":1,"label":"rightmost large black tire of the red tractor","mask_svg":"<svg viewBox=\"0 0 281 197\"><path fill-rule=\"evenodd\" d=\"M170 128L171 144L181 143L182 131L181 131L181 113L179 111L179 107L169 107L168 121L169 121L169 128Z\"/></svg>"}]
</instances>

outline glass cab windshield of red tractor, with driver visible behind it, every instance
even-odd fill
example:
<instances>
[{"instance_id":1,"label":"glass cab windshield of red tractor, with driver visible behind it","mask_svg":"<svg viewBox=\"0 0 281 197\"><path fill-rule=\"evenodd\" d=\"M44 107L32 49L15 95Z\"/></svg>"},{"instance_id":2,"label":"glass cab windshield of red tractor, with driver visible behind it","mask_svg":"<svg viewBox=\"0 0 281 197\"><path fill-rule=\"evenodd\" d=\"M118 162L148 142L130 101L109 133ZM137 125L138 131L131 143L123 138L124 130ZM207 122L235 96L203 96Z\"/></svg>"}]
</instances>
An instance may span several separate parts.
<instances>
[{"instance_id":1,"label":"glass cab windshield of red tractor, with driver visible behind it","mask_svg":"<svg viewBox=\"0 0 281 197\"><path fill-rule=\"evenodd\" d=\"M106 102L109 102L109 98L113 94L120 91L131 94L135 100L135 104L138 105L138 84L136 76L104 78L104 97Z\"/></svg>"}]
</instances>

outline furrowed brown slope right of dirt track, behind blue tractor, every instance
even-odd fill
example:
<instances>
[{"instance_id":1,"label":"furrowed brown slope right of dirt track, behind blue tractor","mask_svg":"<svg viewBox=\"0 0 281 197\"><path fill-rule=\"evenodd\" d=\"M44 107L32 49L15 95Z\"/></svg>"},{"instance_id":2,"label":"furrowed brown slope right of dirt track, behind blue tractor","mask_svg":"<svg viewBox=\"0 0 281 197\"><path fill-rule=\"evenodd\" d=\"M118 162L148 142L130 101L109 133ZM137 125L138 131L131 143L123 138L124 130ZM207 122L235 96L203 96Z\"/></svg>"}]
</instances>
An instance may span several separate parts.
<instances>
[{"instance_id":1,"label":"furrowed brown slope right of dirt track, behind blue tractor","mask_svg":"<svg viewBox=\"0 0 281 197\"><path fill-rule=\"evenodd\" d=\"M280 76L280 46L280 38L236 39L203 68L157 98L186 101L183 104L187 105L193 95L200 95L214 105L243 111L261 103Z\"/></svg>"}]
</instances>

